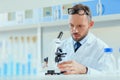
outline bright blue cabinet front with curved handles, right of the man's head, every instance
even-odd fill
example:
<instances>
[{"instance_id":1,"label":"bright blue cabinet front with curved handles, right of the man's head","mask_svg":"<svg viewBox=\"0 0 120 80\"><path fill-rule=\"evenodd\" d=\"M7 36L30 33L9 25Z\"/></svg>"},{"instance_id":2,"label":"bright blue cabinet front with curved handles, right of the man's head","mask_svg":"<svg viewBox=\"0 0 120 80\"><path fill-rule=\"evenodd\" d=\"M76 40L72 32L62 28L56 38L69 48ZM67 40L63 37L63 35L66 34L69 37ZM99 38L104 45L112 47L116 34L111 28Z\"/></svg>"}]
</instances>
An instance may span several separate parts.
<instances>
[{"instance_id":1,"label":"bright blue cabinet front with curved handles, right of the man's head","mask_svg":"<svg viewBox=\"0 0 120 80\"><path fill-rule=\"evenodd\" d=\"M93 16L120 14L119 3L120 0L95 0L83 2L83 4L90 7Z\"/></svg>"}]
</instances>

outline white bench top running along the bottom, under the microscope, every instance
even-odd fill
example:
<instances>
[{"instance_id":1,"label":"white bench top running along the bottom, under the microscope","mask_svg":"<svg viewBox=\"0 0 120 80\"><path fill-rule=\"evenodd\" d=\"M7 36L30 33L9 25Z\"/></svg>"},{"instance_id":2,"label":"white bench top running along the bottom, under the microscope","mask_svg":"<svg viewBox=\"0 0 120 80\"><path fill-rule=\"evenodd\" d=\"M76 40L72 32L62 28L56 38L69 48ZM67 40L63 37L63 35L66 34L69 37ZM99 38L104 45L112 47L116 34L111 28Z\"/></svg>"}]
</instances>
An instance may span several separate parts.
<instances>
[{"instance_id":1,"label":"white bench top running along the bottom, under the microscope","mask_svg":"<svg viewBox=\"0 0 120 80\"><path fill-rule=\"evenodd\" d=\"M82 74L82 75L45 75L39 73L38 75L29 76L4 76L0 80L120 80L120 73L108 74Z\"/></svg>"}]
</instances>

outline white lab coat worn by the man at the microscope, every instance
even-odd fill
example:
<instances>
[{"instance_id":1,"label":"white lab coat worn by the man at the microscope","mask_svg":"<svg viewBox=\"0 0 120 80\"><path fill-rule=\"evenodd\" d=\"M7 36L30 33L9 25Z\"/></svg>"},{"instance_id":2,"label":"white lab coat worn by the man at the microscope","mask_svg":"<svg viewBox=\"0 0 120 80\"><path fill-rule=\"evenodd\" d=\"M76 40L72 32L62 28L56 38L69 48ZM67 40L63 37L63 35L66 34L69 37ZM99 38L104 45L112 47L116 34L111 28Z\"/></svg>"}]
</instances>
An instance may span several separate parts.
<instances>
[{"instance_id":1,"label":"white lab coat worn by the man at the microscope","mask_svg":"<svg viewBox=\"0 0 120 80\"><path fill-rule=\"evenodd\" d=\"M74 52L72 37L64 40L60 47L64 53L67 53L63 61L75 60L87 66L88 74L97 74L105 70L105 66L103 65L104 60L102 59L104 58L104 48L108 46L92 33L88 33L87 40L76 52ZM111 64L109 60L108 63ZM112 65L113 64L111 64L111 66Z\"/></svg>"}]
</instances>

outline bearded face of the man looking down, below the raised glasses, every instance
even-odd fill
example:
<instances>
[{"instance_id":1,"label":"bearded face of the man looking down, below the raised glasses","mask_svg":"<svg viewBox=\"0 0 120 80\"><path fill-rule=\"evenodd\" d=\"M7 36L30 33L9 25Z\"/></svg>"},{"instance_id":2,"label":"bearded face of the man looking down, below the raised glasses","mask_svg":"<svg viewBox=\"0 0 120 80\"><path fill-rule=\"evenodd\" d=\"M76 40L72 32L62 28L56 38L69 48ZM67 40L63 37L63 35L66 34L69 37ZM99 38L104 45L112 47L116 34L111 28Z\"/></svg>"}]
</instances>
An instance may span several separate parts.
<instances>
[{"instance_id":1,"label":"bearded face of the man looking down, below the raised glasses","mask_svg":"<svg viewBox=\"0 0 120 80\"><path fill-rule=\"evenodd\" d=\"M72 38L75 41L82 40L87 35L89 28L92 26L91 22L88 21L87 15L70 15L69 25Z\"/></svg>"}]
</instances>

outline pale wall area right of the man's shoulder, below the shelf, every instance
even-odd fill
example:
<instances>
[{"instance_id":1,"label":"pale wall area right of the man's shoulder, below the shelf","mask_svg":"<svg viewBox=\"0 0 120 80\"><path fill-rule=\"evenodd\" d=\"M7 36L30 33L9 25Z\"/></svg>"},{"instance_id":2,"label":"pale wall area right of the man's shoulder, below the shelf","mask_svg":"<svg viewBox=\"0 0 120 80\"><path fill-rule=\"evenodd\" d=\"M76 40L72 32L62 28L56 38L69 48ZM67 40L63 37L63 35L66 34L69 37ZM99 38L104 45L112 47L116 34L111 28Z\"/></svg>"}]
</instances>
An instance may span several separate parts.
<instances>
[{"instance_id":1,"label":"pale wall area right of the man's shoulder, below the shelf","mask_svg":"<svg viewBox=\"0 0 120 80\"><path fill-rule=\"evenodd\" d=\"M120 56L120 26L93 28L91 32L112 47L116 57L118 53Z\"/></svg>"}]
</instances>

